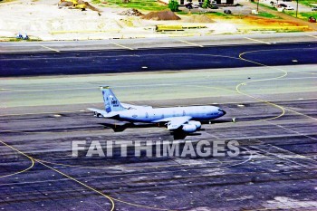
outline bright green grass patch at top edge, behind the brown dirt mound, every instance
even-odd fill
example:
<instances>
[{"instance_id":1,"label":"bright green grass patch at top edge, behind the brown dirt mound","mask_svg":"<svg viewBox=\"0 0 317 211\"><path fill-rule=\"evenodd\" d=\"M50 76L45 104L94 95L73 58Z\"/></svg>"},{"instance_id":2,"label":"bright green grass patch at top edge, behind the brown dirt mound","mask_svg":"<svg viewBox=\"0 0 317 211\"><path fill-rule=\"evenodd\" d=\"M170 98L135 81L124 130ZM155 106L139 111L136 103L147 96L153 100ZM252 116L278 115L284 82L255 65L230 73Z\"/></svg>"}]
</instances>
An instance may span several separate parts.
<instances>
[{"instance_id":1,"label":"bright green grass patch at top edge, behind the brown dirt mound","mask_svg":"<svg viewBox=\"0 0 317 211\"><path fill-rule=\"evenodd\" d=\"M123 3L122 0L92 0L93 4L96 5L110 5L110 6L120 6L124 8L135 8L138 10L149 10L149 11L161 11L168 9L168 5L159 4L156 0L130 0L128 3ZM107 4L104 4L107 3Z\"/></svg>"}]
</instances>

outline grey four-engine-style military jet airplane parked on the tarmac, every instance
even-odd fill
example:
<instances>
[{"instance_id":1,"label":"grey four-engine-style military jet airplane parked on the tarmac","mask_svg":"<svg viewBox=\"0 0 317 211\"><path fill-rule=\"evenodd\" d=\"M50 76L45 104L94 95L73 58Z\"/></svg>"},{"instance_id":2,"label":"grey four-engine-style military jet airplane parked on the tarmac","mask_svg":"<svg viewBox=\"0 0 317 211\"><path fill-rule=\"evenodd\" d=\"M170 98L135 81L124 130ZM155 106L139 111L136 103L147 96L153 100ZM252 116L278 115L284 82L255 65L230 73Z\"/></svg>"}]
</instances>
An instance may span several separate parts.
<instances>
[{"instance_id":1,"label":"grey four-engine-style military jet airplane parked on the tarmac","mask_svg":"<svg viewBox=\"0 0 317 211\"><path fill-rule=\"evenodd\" d=\"M130 123L163 123L171 132L194 133L201 129L200 121L210 121L226 114L216 106L153 108L121 103L109 86L101 86L104 110L88 108L95 117Z\"/></svg>"}]
</instances>

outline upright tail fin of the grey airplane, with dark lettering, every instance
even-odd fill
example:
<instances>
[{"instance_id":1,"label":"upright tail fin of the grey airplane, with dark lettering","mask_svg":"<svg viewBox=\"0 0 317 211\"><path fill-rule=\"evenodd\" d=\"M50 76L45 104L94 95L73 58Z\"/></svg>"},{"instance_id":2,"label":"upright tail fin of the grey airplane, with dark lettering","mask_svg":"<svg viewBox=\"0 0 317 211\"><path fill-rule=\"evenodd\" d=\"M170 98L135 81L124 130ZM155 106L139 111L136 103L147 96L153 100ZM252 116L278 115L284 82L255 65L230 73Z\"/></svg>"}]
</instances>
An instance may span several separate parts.
<instances>
[{"instance_id":1,"label":"upright tail fin of the grey airplane, with dark lettering","mask_svg":"<svg viewBox=\"0 0 317 211\"><path fill-rule=\"evenodd\" d=\"M109 113L111 111L120 111L126 110L120 104L120 101L114 95L114 93L110 90L109 86L101 86L102 97L104 102L104 109Z\"/></svg>"}]
</instances>

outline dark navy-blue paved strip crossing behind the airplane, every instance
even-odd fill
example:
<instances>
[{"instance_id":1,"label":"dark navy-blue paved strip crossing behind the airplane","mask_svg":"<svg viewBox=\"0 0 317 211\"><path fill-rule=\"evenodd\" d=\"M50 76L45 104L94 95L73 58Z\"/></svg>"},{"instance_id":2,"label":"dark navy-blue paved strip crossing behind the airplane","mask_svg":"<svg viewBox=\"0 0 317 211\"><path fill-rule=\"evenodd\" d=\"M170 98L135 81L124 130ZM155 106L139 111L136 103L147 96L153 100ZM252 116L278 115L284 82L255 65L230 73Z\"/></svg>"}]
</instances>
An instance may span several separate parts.
<instances>
[{"instance_id":1,"label":"dark navy-blue paved strip crossing behind the airplane","mask_svg":"<svg viewBox=\"0 0 317 211\"><path fill-rule=\"evenodd\" d=\"M179 71L317 62L317 43L249 44L168 49L2 53L1 77ZM239 55L254 62L239 59Z\"/></svg>"}]
</instances>

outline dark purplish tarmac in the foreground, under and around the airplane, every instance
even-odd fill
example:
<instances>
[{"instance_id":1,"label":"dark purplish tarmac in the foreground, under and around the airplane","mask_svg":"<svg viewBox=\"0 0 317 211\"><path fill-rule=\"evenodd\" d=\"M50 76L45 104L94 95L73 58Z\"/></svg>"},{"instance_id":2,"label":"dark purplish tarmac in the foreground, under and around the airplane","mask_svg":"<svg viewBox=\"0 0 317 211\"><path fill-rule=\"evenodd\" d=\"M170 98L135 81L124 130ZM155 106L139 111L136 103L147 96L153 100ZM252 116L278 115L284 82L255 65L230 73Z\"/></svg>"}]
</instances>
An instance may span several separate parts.
<instances>
[{"instance_id":1,"label":"dark purplish tarmac in the foreground, under and around the airplane","mask_svg":"<svg viewBox=\"0 0 317 211\"><path fill-rule=\"evenodd\" d=\"M283 108L316 118L316 100L283 101ZM114 133L98 124L89 112L61 116L47 114L2 117L2 140L35 160L32 169L12 177L32 162L1 147L1 208L32 210L39 207L110 210L314 210L317 205L315 120L263 103L245 107L222 104L237 123L204 125L195 141L235 139L237 158L72 158L72 140L172 140L162 128L127 129ZM5 122L9 121L10 124ZM43 165L47 165L43 166ZM49 167L49 168L48 168ZM66 174L69 177L65 177Z\"/></svg>"}]
</instances>

